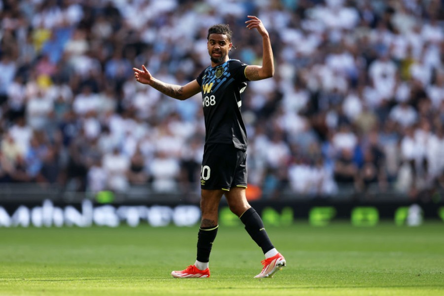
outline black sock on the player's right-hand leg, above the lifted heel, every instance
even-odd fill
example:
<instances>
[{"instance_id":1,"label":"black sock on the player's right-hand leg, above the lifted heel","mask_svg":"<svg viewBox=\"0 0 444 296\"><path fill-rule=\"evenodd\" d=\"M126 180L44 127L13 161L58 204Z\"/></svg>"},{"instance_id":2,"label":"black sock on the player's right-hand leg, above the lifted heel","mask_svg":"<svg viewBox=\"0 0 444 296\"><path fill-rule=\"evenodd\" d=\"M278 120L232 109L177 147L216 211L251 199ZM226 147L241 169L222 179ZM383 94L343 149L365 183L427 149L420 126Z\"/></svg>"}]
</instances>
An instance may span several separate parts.
<instances>
[{"instance_id":1,"label":"black sock on the player's right-hand leg, above the lifted heel","mask_svg":"<svg viewBox=\"0 0 444 296\"><path fill-rule=\"evenodd\" d=\"M247 230L251 238L262 249L263 254L274 248L273 244L268 238L265 228L263 228L262 219L260 219L260 216L255 209L250 208L245 211L245 213L240 217L240 220L245 224L245 230Z\"/></svg>"}]
</instances>

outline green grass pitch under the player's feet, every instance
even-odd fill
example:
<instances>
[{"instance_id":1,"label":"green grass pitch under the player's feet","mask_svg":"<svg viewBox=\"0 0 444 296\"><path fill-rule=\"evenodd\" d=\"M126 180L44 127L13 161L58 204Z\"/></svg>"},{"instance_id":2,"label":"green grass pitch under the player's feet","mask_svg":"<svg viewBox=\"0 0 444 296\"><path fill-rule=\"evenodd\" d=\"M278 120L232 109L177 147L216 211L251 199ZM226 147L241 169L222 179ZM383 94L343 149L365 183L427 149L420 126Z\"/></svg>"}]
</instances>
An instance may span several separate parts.
<instances>
[{"instance_id":1,"label":"green grass pitch under the player's feet","mask_svg":"<svg viewBox=\"0 0 444 296\"><path fill-rule=\"evenodd\" d=\"M287 259L254 279L263 255L220 227L208 279L175 279L195 260L196 227L0 228L0 295L444 295L444 223L267 227Z\"/></svg>"}]
</instances>

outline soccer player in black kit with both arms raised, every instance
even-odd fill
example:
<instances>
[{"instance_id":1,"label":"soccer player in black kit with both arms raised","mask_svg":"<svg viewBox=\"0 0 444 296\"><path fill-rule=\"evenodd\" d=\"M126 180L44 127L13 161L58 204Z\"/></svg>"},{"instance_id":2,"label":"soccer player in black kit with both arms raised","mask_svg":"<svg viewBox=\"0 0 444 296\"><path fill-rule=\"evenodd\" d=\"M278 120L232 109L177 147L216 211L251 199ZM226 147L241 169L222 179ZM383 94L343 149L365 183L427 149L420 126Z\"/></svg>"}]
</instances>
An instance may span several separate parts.
<instances>
[{"instance_id":1,"label":"soccer player in black kit with both arms raised","mask_svg":"<svg viewBox=\"0 0 444 296\"><path fill-rule=\"evenodd\" d=\"M249 66L231 60L232 32L227 25L215 25L208 30L208 53L211 66L184 86L173 85L154 78L142 65L133 68L140 83L178 100L202 93L205 118L205 146L201 170L202 220L197 236L197 258L184 270L173 271L176 278L210 277L208 262L218 232L218 209L225 195L230 210L245 224L245 229L262 249L265 259L256 278L270 277L285 266L284 257L271 243L259 214L250 206L245 195L247 187L247 133L240 107L241 94L247 81L261 80L274 74L270 37L256 16L248 16L247 28L257 29L262 36L262 66Z\"/></svg>"}]
</instances>

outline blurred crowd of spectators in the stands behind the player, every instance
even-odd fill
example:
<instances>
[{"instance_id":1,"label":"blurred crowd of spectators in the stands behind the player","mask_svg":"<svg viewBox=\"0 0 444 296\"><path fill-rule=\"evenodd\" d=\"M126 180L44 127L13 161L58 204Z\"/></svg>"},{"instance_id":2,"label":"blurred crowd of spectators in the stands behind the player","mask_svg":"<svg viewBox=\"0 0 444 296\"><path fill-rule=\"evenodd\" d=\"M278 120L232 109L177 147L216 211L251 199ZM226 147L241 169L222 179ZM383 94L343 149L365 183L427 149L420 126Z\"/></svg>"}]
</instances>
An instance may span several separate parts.
<instances>
[{"instance_id":1,"label":"blurred crowd of spectators in the stands behind the player","mask_svg":"<svg viewBox=\"0 0 444 296\"><path fill-rule=\"evenodd\" d=\"M184 85L210 64L207 30L227 23L230 58L275 76L250 82L242 112L249 183L280 192L444 188L442 0L2 0L0 182L66 190L199 189L201 96L135 81L145 64Z\"/></svg>"}]
</instances>

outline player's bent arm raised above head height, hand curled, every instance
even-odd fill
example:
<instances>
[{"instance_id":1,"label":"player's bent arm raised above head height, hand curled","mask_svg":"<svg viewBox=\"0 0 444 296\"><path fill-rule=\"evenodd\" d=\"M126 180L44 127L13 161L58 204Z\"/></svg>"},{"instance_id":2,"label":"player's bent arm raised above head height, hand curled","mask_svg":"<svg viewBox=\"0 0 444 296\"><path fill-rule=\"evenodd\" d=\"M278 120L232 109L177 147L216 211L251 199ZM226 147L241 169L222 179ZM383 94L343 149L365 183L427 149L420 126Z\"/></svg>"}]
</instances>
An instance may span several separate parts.
<instances>
[{"instance_id":1,"label":"player's bent arm raised above head height, hand curled","mask_svg":"<svg viewBox=\"0 0 444 296\"><path fill-rule=\"evenodd\" d=\"M262 66L247 66L245 68L245 77L251 81L272 77L274 74L274 62L270 36L259 18L252 15L249 15L248 18L250 20L245 22L247 28L249 30L258 29L259 34L262 36Z\"/></svg>"}]
</instances>

